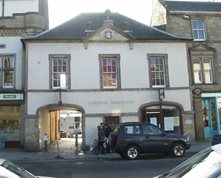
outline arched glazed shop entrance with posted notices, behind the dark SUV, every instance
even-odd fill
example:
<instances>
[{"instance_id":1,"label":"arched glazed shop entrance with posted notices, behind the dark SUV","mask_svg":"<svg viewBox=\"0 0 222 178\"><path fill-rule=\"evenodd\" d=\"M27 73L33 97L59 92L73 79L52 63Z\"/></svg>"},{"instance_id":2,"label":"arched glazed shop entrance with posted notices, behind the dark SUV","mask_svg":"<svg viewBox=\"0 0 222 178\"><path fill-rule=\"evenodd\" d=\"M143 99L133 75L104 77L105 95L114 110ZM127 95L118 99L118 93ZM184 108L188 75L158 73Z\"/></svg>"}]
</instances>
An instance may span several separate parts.
<instances>
[{"instance_id":1,"label":"arched glazed shop entrance with posted notices, behind the dark SUV","mask_svg":"<svg viewBox=\"0 0 222 178\"><path fill-rule=\"evenodd\" d=\"M162 128L168 133L183 134L183 107L175 102L151 102L139 108L140 121Z\"/></svg>"}]
</instances>

